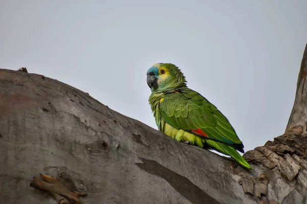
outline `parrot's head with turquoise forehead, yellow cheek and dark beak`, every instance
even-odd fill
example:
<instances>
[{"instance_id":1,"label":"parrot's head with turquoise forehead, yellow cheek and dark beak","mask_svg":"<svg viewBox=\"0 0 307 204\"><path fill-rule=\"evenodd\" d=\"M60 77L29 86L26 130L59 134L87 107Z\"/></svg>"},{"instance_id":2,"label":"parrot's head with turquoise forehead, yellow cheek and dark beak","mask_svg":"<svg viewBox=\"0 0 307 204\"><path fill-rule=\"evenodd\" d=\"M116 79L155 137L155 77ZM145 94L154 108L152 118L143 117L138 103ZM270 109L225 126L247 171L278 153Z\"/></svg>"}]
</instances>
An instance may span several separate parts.
<instances>
[{"instance_id":1,"label":"parrot's head with turquoise forehead, yellow cheek and dark beak","mask_svg":"<svg viewBox=\"0 0 307 204\"><path fill-rule=\"evenodd\" d=\"M187 81L181 70L174 64L157 63L147 71L147 84L151 92L163 92L186 86Z\"/></svg>"}]
</instances>

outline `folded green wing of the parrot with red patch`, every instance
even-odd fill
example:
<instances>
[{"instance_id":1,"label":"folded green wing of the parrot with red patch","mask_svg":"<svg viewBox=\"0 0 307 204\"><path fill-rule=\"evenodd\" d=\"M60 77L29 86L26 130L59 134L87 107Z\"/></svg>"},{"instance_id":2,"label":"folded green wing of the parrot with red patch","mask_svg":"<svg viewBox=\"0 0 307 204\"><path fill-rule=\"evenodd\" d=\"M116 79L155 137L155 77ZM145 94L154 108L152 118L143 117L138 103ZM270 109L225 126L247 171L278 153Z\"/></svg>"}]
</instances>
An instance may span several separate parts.
<instances>
[{"instance_id":1,"label":"folded green wing of the parrot with red patch","mask_svg":"<svg viewBox=\"0 0 307 204\"><path fill-rule=\"evenodd\" d=\"M176 129L222 142L244 153L242 141L228 119L205 97L187 87L164 95L160 103L163 119ZM197 130L198 133L195 133ZM205 133L202 134L201 132Z\"/></svg>"}]
</instances>

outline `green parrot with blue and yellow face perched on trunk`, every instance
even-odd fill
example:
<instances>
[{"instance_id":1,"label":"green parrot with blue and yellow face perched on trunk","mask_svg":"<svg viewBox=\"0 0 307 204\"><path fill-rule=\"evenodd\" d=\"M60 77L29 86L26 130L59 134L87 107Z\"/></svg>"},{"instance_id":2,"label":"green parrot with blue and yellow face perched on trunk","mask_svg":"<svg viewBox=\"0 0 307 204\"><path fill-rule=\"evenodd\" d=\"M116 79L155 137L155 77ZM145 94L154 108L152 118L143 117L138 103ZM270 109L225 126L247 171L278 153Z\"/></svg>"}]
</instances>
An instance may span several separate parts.
<instances>
[{"instance_id":1,"label":"green parrot with blue and yellow face perched on trunk","mask_svg":"<svg viewBox=\"0 0 307 204\"><path fill-rule=\"evenodd\" d=\"M228 119L205 97L187 87L181 70L158 63L147 71L149 104L159 131L180 142L215 149L247 169L252 167L236 151L244 145Z\"/></svg>"}]
</instances>

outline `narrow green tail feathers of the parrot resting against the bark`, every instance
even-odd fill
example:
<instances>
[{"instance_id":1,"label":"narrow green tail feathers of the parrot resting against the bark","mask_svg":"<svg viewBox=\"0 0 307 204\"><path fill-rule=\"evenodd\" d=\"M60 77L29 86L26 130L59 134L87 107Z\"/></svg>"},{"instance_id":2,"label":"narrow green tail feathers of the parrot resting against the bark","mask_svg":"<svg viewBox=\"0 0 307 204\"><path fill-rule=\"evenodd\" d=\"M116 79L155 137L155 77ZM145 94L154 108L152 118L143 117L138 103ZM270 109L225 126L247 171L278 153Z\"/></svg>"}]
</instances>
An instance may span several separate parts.
<instances>
[{"instance_id":1,"label":"narrow green tail feathers of the parrot resting against the bark","mask_svg":"<svg viewBox=\"0 0 307 204\"><path fill-rule=\"evenodd\" d=\"M243 167L252 170L252 167L247 163L247 161L231 146L224 144L222 142L216 142L213 140L206 140L207 144L211 146L214 150L221 152L224 155L229 155L234 159L237 163L242 165Z\"/></svg>"}]
</instances>

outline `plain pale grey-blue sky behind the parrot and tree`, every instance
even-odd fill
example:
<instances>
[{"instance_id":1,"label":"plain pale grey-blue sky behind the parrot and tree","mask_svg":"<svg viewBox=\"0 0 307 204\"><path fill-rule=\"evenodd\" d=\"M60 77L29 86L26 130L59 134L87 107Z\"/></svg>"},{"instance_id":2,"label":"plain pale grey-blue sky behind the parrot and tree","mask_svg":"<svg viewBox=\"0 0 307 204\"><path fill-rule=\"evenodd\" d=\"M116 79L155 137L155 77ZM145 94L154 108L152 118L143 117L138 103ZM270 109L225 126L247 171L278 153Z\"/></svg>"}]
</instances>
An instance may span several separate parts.
<instances>
[{"instance_id":1,"label":"plain pale grey-blue sky behind the parrot and tree","mask_svg":"<svg viewBox=\"0 0 307 204\"><path fill-rule=\"evenodd\" d=\"M0 68L27 67L157 129L146 71L173 63L250 150L286 128L306 8L305 0L2 0Z\"/></svg>"}]
</instances>

